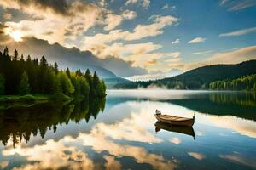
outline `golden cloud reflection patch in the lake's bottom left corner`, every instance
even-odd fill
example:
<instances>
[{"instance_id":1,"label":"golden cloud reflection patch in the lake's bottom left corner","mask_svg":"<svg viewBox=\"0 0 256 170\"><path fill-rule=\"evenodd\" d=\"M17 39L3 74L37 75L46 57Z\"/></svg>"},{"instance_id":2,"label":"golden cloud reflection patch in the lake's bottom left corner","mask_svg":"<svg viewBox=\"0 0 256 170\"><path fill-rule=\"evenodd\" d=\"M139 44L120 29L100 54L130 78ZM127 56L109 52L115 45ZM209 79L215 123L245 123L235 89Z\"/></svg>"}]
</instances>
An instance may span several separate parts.
<instances>
[{"instance_id":1,"label":"golden cloud reflection patch in the lake's bottom left corner","mask_svg":"<svg viewBox=\"0 0 256 170\"><path fill-rule=\"evenodd\" d=\"M27 161L34 161L15 169L93 169L93 161L81 150L73 146L65 146L60 141L50 139L45 144L33 147L21 147L3 150L3 156L19 154L26 156Z\"/></svg>"}]
</instances>

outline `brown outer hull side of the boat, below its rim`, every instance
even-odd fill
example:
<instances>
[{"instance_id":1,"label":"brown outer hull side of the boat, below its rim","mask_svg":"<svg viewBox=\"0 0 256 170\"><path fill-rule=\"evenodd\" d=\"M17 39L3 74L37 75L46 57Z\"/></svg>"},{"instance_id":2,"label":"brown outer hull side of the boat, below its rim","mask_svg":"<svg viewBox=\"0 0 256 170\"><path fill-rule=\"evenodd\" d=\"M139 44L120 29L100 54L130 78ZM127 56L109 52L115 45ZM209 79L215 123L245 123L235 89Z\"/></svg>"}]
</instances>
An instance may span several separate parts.
<instances>
[{"instance_id":1,"label":"brown outer hull side of the boat, below its rim","mask_svg":"<svg viewBox=\"0 0 256 170\"><path fill-rule=\"evenodd\" d=\"M186 127L192 127L195 123L195 119L185 119L185 120L180 120L180 121L175 121L175 120L168 120L165 118L162 118L159 115L154 114L155 118L160 121L160 122L165 122L168 123L170 125L174 125L174 126L186 126Z\"/></svg>"}]
</instances>

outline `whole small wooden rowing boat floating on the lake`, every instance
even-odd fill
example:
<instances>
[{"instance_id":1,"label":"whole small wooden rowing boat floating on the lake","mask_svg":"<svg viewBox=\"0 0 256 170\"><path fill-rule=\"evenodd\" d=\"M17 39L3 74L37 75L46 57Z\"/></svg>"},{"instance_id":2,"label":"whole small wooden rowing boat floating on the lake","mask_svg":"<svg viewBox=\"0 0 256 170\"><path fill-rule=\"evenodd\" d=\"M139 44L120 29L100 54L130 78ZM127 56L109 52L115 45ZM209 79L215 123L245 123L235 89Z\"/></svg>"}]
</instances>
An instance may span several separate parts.
<instances>
[{"instance_id":1,"label":"whole small wooden rowing boat floating on the lake","mask_svg":"<svg viewBox=\"0 0 256 170\"><path fill-rule=\"evenodd\" d=\"M193 116L193 118L186 118L179 116L162 115L161 112L158 110L155 111L154 116L160 122L166 122L176 126L192 127L195 122L195 116Z\"/></svg>"}]
</instances>

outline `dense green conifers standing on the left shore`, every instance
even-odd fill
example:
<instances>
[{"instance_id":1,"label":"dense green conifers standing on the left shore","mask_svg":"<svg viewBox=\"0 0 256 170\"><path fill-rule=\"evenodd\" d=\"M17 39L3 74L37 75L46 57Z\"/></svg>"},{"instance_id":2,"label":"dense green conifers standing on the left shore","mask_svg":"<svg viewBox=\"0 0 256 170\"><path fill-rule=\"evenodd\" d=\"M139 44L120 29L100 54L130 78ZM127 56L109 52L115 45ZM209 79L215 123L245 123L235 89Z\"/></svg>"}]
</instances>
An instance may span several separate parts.
<instances>
[{"instance_id":1,"label":"dense green conifers standing on the left shore","mask_svg":"<svg viewBox=\"0 0 256 170\"><path fill-rule=\"evenodd\" d=\"M0 95L24 94L54 94L63 96L96 98L106 95L105 83L100 80L96 72L90 74L78 71L58 69L55 62L49 65L44 56L32 59L30 55L24 58L15 49L9 54L9 49L0 51Z\"/></svg>"}]
</instances>

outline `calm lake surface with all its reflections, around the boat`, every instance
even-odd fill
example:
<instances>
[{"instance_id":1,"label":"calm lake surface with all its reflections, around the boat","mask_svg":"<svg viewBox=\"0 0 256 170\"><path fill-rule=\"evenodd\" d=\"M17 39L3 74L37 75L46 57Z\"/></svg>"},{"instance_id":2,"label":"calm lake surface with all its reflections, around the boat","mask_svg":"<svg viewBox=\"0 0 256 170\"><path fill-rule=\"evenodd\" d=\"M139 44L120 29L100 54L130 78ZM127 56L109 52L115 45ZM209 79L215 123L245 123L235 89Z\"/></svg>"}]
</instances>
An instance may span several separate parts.
<instances>
[{"instance_id":1,"label":"calm lake surface with all its reflections, around the boat","mask_svg":"<svg viewBox=\"0 0 256 170\"><path fill-rule=\"evenodd\" d=\"M106 101L3 108L0 169L256 168L256 94L108 90ZM195 125L156 123L156 109Z\"/></svg>"}]
</instances>

